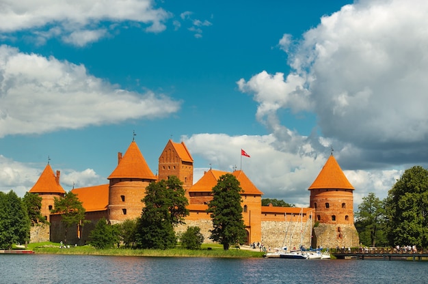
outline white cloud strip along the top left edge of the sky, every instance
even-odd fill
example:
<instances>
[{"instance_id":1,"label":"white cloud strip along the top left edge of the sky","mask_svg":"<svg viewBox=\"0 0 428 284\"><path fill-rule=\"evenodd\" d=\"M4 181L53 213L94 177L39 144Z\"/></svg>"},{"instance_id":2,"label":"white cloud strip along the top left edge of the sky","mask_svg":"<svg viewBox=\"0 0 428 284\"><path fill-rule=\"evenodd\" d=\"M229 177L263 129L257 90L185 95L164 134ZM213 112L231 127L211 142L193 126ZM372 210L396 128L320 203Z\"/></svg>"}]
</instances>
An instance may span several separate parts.
<instances>
[{"instance_id":1,"label":"white cloud strip along the top left edge of the sky","mask_svg":"<svg viewBox=\"0 0 428 284\"><path fill-rule=\"evenodd\" d=\"M59 35L64 42L77 46L106 35L107 27L115 26L111 23L142 23L146 31L159 33L172 14L154 6L152 0L3 1L0 33L30 31L39 42ZM57 32L51 33L52 29Z\"/></svg>"}]
</instances>

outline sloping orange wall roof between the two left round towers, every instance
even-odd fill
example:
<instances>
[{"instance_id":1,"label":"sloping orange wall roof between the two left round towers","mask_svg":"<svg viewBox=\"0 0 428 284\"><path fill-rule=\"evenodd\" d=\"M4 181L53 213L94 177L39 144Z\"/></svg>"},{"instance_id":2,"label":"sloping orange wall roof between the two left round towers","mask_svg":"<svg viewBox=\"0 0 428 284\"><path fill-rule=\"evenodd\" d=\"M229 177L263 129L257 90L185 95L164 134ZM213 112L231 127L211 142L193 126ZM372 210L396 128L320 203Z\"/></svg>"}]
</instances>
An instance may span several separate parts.
<instances>
[{"instance_id":1,"label":"sloping orange wall roof between the two left round towers","mask_svg":"<svg viewBox=\"0 0 428 284\"><path fill-rule=\"evenodd\" d=\"M86 212L107 210L107 205L109 205L109 184L75 188L71 192L77 195Z\"/></svg>"}]
</instances>

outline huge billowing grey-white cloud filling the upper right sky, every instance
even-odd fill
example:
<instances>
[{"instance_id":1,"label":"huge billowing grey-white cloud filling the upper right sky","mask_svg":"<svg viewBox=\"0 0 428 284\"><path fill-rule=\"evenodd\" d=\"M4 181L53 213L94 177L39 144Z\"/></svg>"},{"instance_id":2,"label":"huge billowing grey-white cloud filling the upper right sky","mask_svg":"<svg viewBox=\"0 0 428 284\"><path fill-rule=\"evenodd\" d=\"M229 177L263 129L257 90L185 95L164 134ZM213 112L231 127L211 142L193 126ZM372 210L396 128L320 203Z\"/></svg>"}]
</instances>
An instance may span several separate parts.
<instances>
[{"instance_id":1,"label":"huge billowing grey-white cloud filling the upper right sky","mask_svg":"<svg viewBox=\"0 0 428 284\"><path fill-rule=\"evenodd\" d=\"M288 75L263 71L239 80L239 89L252 94L257 119L278 141L293 128L280 122L281 109L309 111L335 150L349 151L342 166L426 164L427 13L428 3L420 1L345 5L296 44L290 35L280 39Z\"/></svg>"}]
</instances>

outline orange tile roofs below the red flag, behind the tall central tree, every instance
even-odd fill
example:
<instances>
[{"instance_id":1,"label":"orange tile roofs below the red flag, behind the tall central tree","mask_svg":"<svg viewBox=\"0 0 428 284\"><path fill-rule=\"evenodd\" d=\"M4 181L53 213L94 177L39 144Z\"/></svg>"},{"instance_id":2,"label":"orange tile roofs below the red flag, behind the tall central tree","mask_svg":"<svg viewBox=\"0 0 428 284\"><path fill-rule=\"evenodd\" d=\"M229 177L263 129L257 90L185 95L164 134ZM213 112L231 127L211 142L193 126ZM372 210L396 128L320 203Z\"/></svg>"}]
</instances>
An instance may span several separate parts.
<instances>
[{"instance_id":1,"label":"orange tile roofs below the red flag, behind the tall central tree","mask_svg":"<svg viewBox=\"0 0 428 284\"><path fill-rule=\"evenodd\" d=\"M217 181L222 175L228 173L227 171L217 171L210 169L201 178L191 186L189 192L209 192L211 193L213 187L217 184ZM251 180L245 175L243 171L234 171L232 175L235 175L241 188L244 190L244 195L263 195L263 193L254 186Z\"/></svg>"}]
</instances>

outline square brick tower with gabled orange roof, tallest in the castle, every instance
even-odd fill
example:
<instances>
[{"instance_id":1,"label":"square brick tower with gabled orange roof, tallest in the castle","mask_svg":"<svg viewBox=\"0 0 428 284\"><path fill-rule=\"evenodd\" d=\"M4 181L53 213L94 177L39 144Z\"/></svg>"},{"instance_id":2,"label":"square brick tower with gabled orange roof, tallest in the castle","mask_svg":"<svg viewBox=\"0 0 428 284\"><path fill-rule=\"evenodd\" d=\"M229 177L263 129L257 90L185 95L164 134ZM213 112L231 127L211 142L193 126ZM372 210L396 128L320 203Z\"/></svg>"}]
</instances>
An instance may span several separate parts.
<instances>
[{"instance_id":1,"label":"square brick tower with gabled orange roof, tallest in the castle","mask_svg":"<svg viewBox=\"0 0 428 284\"><path fill-rule=\"evenodd\" d=\"M183 182L189 199L189 189L193 185L193 158L184 142L174 143L170 139L159 157L159 180L168 180L171 175Z\"/></svg>"}]
</instances>

